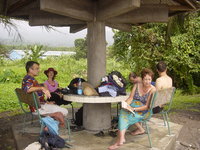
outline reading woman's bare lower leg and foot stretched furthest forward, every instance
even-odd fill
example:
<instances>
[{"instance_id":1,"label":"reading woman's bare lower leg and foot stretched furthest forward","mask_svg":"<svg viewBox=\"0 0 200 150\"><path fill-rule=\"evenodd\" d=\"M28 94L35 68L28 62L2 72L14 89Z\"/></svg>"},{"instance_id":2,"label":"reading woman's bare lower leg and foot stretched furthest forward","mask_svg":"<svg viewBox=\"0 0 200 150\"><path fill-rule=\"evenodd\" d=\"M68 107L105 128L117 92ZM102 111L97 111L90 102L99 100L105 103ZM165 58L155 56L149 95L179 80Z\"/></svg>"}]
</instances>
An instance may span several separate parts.
<instances>
[{"instance_id":1,"label":"reading woman's bare lower leg and foot stretched furthest forward","mask_svg":"<svg viewBox=\"0 0 200 150\"><path fill-rule=\"evenodd\" d=\"M109 146L108 149L114 150L114 149L119 148L121 145L123 145L123 143L125 142L125 133L126 133L126 129L122 131L118 130L117 141L115 142L115 144Z\"/></svg>"}]
</instances>

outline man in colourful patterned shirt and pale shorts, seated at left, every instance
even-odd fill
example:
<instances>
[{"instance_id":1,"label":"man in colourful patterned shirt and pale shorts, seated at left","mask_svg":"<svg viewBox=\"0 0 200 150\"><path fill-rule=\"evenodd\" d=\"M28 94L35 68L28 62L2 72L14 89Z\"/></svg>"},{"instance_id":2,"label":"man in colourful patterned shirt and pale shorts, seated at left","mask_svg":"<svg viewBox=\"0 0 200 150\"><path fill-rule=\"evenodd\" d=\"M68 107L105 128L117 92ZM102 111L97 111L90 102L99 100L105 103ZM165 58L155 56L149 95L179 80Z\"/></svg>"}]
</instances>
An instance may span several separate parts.
<instances>
[{"instance_id":1,"label":"man in colourful patterned shirt and pale shorts, seated at left","mask_svg":"<svg viewBox=\"0 0 200 150\"><path fill-rule=\"evenodd\" d=\"M36 92L41 104L41 108L39 112L41 115L48 115L51 117L57 116L58 113L62 113L63 116L68 114L67 109L59 107L53 103L47 103L45 101L46 98L50 98L50 92L47 88L45 88L42 84L39 84L38 81L35 79L40 72L40 66L38 62L35 61L28 61L26 63L26 71L27 75L25 75L22 81L22 89L27 92ZM36 109L34 107L30 107L32 113L36 113ZM64 117L63 117L64 121Z\"/></svg>"}]
</instances>

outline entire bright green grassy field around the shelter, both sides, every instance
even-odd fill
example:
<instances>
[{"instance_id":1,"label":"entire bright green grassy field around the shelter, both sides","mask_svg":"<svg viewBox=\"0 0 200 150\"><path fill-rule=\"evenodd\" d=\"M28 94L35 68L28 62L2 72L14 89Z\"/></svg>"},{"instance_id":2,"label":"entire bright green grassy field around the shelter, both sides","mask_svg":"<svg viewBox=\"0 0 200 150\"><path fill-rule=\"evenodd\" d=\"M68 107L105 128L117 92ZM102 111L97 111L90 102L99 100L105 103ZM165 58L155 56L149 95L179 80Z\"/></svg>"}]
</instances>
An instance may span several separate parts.
<instances>
[{"instance_id":1,"label":"entire bright green grassy field around the shelter, both sides","mask_svg":"<svg viewBox=\"0 0 200 150\"><path fill-rule=\"evenodd\" d=\"M46 76L44 70L48 67L54 67L58 71L56 80L61 87L68 86L69 82L75 77L82 77L86 79L87 62L85 59L75 60L70 57L48 58L40 60L41 73L37 77L39 82L44 82ZM20 113L20 107L17 97L15 95L15 88L21 87L21 80L26 74L24 68L24 61L6 61L0 67L0 112L13 111ZM118 70L124 77L127 77L130 69L126 68L123 63L116 62L113 59L107 61L107 73ZM79 107L80 104L74 104ZM200 111L200 95L182 95L180 90L177 90L173 99L172 109ZM116 105L113 105L115 107Z\"/></svg>"}]
</instances>

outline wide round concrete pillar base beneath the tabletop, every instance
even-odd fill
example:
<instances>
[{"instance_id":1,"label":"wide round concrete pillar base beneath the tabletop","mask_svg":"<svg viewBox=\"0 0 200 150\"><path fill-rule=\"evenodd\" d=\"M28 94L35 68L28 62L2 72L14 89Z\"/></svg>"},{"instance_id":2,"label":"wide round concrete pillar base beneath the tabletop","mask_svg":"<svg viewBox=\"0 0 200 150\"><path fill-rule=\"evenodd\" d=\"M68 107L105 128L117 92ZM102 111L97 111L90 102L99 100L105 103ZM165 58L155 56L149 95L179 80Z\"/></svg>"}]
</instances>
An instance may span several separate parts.
<instances>
[{"instance_id":1,"label":"wide round concrete pillar base beneath the tabletop","mask_svg":"<svg viewBox=\"0 0 200 150\"><path fill-rule=\"evenodd\" d=\"M89 131L102 131L111 127L111 104L83 104L83 127Z\"/></svg>"}]
</instances>

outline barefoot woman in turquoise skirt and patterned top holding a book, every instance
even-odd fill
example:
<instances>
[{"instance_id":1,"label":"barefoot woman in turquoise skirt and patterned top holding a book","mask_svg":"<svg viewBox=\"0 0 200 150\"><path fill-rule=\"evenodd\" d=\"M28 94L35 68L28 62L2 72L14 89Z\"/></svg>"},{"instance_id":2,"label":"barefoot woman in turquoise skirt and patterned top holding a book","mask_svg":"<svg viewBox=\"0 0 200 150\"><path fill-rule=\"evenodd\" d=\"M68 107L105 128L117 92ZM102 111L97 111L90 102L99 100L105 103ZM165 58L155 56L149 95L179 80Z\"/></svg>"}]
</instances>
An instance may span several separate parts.
<instances>
[{"instance_id":1,"label":"barefoot woman in turquoise skirt and patterned top holding a book","mask_svg":"<svg viewBox=\"0 0 200 150\"><path fill-rule=\"evenodd\" d=\"M143 69L141 72L142 82L134 85L129 98L126 102L129 104L126 109L122 109L119 115L118 135L116 142L108 149L113 150L119 148L125 142L125 132L129 126L135 124L137 129L132 135L143 134L145 130L139 123L148 113L152 93L155 87L151 85L154 73L150 69ZM133 115L129 110L133 110Z\"/></svg>"}]
</instances>

